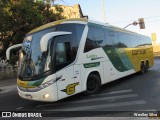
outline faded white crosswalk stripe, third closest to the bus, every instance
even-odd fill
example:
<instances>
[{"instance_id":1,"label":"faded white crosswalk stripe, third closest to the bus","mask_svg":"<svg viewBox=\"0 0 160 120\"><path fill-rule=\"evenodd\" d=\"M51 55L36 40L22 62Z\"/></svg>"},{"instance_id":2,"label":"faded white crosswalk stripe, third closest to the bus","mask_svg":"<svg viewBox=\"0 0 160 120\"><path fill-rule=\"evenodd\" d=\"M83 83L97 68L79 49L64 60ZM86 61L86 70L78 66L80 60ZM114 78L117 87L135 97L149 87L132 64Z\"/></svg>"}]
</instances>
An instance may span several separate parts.
<instances>
[{"instance_id":1,"label":"faded white crosswalk stripe, third closest to the bus","mask_svg":"<svg viewBox=\"0 0 160 120\"><path fill-rule=\"evenodd\" d=\"M103 108L113 108L113 107L123 107L123 106L132 106L132 105L141 105L146 104L144 100L136 100L136 101L129 101L129 102L119 102L119 103L108 103L108 104L101 104L101 105L90 105L90 106L83 106L83 107L72 107L72 108L62 108L62 109L51 109L45 111L87 111L87 110L98 110Z\"/></svg>"}]
</instances>

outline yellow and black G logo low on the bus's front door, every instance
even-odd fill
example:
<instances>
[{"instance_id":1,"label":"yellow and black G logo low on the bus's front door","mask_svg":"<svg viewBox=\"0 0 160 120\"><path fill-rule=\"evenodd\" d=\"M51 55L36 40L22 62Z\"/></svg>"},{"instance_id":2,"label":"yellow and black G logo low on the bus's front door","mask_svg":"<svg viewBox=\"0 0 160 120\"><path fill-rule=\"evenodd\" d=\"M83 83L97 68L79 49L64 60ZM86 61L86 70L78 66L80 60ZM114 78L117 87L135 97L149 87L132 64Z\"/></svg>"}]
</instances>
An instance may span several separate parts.
<instances>
[{"instance_id":1,"label":"yellow and black G logo low on the bus's front door","mask_svg":"<svg viewBox=\"0 0 160 120\"><path fill-rule=\"evenodd\" d=\"M79 82L70 84L70 85L68 85L68 86L66 87L66 89L61 90L61 91L66 92L68 95L71 95L71 94L75 93L75 91L76 91L75 87L76 87L77 85L79 85Z\"/></svg>"}]
</instances>

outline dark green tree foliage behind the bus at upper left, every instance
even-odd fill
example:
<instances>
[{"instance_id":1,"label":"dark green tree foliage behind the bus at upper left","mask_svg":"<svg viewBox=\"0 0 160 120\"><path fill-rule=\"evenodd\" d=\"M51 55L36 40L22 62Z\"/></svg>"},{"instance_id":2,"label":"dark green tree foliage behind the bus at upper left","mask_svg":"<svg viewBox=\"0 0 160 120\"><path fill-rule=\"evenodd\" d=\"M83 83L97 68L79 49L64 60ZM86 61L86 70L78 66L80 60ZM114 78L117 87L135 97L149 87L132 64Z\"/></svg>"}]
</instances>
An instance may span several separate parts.
<instances>
[{"instance_id":1,"label":"dark green tree foliage behind the bus at upper left","mask_svg":"<svg viewBox=\"0 0 160 120\"><path fill-rule=\"evenodd\" d=\"M53 13L49 4L34 0L1 0L0 2L0 57L10 45L22 43L30 30L55 20L63 19L63 10L56 6Z\"/></svg>"}]
</instances>

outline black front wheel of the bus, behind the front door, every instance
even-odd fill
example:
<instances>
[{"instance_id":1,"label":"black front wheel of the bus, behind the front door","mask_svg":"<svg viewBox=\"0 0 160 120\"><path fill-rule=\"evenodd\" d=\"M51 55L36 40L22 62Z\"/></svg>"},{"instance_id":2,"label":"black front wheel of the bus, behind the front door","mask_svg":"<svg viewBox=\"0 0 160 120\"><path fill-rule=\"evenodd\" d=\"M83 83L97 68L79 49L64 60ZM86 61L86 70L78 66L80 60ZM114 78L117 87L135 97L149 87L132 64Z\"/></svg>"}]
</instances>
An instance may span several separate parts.
<instances>
[{"instance_id":1,"label":"black front wheel of the bus, behind the front door","mask_svg":"<svg viewBox=\"0 0 160 120\"><path fill-rule=\"evenodd\" d=\"M84 92L85 95L91 95L99 93L101 88L101 80L98 75L90 74L87 80L87 90Z\"/></svg>"}]
</instances>

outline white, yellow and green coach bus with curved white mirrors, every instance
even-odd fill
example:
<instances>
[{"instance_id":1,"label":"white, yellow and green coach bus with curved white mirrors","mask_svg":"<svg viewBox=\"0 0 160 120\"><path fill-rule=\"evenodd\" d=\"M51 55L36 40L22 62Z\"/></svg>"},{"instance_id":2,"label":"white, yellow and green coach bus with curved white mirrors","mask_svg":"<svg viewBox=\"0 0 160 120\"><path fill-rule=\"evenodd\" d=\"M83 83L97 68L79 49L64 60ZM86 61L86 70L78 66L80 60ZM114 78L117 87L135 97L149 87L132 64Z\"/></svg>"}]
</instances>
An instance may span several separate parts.
<instances>
[{"instance_id":1,"label":"white, yellow and green coach bus with curved white mirrors","mask_svg":"<svg viewBox=\"0 0 160 120\"><path fill-rule=\"evenodd\" d=\"M153 65L149 37L87 19L52 22L29 32L19 52L17 89L28 100L53 102L141 72Z\"/></svg>"}]
</instances>

